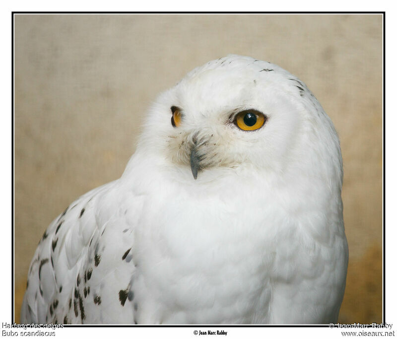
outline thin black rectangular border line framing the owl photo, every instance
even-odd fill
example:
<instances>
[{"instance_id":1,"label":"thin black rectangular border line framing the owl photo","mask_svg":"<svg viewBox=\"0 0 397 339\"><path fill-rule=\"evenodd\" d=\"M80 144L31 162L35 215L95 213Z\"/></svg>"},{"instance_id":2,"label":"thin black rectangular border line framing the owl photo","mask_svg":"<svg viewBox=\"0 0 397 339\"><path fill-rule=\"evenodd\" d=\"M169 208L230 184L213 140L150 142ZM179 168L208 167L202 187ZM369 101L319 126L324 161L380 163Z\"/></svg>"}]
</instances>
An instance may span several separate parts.
<instances>
[{"instance_id":1,"label":"thin black rectangular border line framing the owl photo","mask_svg":"<svg viewBox=\"0 0 397 339\"><path fill-rule=\"evenodd\" d=\"M382 324L386 323L386 12L385 11L272 11L272 12L260 12L260 11L11 11L11 323L15 322L14 319L14 15L15 14L382 14L383 15L383 321ZM233 328L233 327L325 327L329 328L329 325L64 325L64 327L216 327L216 328ZM336 327L336 326L335 326Z\"/></svg>"}]
</instances>

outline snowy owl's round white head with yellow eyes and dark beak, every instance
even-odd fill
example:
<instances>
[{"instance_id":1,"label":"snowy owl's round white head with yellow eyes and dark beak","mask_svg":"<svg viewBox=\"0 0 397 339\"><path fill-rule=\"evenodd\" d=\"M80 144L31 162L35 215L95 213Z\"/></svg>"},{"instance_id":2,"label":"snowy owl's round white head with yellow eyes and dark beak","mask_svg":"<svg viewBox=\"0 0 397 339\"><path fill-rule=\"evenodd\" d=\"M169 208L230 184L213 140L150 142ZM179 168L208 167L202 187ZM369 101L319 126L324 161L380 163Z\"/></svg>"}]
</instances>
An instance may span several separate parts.
<instances>
[{"instance_id":1,"label":"snowy owl's round white head with yellow eyes and dark beak","mask_svg":"<svg viewBox=\"0 0 397 339\"><path fill-rule=\"evenodd\" d=\"M294 75L250 57L210 61L162 93L137 149L192 181L259 171L341 183L338 137L317 99Z\"/></svg>"}]
</instances>

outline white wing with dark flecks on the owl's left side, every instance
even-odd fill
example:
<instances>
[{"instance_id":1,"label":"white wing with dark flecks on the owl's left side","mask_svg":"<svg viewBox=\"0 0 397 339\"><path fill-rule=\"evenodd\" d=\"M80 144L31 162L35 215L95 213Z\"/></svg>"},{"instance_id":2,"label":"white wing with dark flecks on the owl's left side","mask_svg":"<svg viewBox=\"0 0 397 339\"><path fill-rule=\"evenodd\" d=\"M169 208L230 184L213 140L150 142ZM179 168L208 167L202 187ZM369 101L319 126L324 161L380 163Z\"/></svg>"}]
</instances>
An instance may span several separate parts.
<instances>
[{"instance_id":1,"label":"white wing with dark flecks on the owl's left side","mask_svg":"<svg viewBox=\"0 0 397 339\"><path fill-rule=\"evenodd\" d=\"M134 323L134 232L121 191L118 181L92 190L50 224L28 272L22 323Z\"/></svg>"}]
</instances>

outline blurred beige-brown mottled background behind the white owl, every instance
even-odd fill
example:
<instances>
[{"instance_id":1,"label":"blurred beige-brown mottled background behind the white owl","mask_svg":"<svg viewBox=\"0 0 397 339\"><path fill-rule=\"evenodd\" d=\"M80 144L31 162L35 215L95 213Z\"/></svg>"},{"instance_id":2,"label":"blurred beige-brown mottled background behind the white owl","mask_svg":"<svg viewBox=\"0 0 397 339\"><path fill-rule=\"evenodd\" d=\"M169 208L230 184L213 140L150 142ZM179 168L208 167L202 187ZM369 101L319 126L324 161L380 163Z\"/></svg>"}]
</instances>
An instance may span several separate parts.
<instances>
[{"instance_id":1,"label":"blurred beige-brown mottled background behind the white owl","mask_svg":"<svg viewBox=\"0 0 397 339\"><path fill-rule=\"evenodd\" d=\"M381 15L16 15L15 320L53 218L118 178L156 95L230 53L299 76L339 133L350 248L340 322L382 321Z\"/></svg>"}]
</instances>

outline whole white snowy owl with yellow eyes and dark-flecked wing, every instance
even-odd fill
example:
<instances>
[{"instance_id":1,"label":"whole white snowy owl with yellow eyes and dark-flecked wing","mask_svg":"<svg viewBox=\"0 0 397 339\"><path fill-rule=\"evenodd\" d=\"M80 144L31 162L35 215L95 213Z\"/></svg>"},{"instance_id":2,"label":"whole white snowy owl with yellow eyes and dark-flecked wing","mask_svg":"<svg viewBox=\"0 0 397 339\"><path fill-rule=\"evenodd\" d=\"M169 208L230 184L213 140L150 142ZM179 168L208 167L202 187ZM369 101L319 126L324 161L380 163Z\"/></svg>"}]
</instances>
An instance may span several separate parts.
<instances>
[{"instance_id":1,"label":"whole white snowy owl with yellow eyes and dark-flecked wing","mask_svg":"<svg viewBox=\"0 0 397 339\"><path fill-rule=\"evenodd\" d=\"M50 224L21 322L336 322L342 175L302 81L249 57L210 61L157 98L122 177Z\"/></svg>"}]
</instances>

